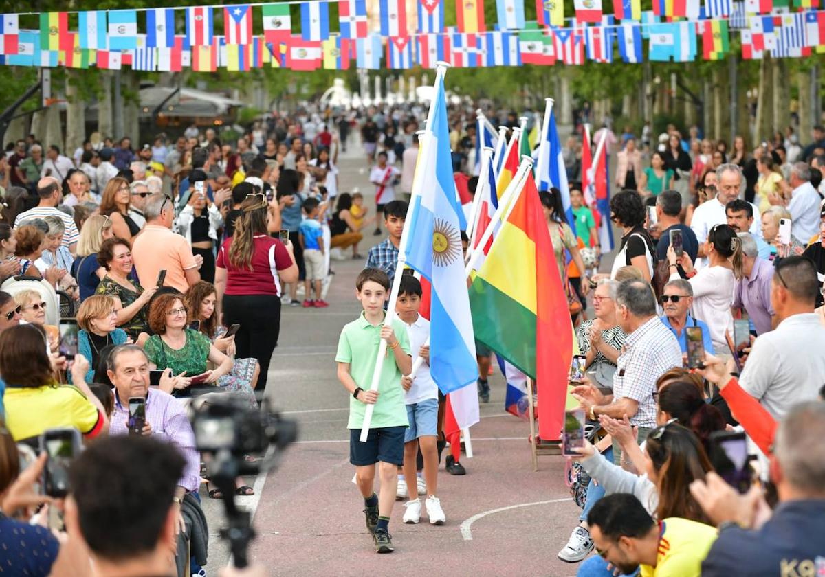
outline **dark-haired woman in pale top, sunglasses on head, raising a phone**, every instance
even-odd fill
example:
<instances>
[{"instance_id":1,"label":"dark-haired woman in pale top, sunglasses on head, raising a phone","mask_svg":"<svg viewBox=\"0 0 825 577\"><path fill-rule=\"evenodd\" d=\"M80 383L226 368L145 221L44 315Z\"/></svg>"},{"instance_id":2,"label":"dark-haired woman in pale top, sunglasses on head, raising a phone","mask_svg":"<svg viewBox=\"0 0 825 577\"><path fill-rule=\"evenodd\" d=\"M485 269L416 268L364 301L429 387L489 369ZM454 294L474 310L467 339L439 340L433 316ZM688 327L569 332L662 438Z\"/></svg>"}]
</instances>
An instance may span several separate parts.
<instances>
[{"instance_id":1,"label":"dark-haired woman in pale top, sunglasses on head, raising a phone","mask_svg":"<svg viewBox=\"0 0 825 577\"><path fill-rule=\"evenodd\" d=\"M707 323L716 354L727 358L729 355L723 352L728 350L725 331L733 334L730 307L733 304L733 286L742 278L742 241L733 228L727 224L717 224L710 229L704 249L708 266L697 273L691 257L686 253L676 256L676 251L670 246L667 249L670 279L681 279L678 267L681 265L693 288L692 316Z\"/></svg>"}]
</instances>

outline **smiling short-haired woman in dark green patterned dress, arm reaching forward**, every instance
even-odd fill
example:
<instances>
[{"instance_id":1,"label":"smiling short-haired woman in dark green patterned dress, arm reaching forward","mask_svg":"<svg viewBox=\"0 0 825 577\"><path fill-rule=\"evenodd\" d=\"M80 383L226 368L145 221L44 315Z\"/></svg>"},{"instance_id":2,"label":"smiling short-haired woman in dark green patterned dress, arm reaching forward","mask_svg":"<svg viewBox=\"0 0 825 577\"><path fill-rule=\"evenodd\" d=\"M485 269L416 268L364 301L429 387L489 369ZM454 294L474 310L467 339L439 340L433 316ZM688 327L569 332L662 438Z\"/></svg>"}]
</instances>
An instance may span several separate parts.
<instances>
[{"instance_id":1,"label":"smiling short-haired woman in dark green patterned dress, arm reaching forward","mask_svg":"<svg viewBox=\"0 0 825 577\"><path fill-rule=\"evenodd\" d=\"M97 262L106 269L106 276L97 285L95 294L105 294L115 300L117 326L133 340L148 332L146 313L149 300L158 287L146 290L129 278L132 272L132 247L122 238L107 238L97 251Z\"/></svg>"}]
</instances>

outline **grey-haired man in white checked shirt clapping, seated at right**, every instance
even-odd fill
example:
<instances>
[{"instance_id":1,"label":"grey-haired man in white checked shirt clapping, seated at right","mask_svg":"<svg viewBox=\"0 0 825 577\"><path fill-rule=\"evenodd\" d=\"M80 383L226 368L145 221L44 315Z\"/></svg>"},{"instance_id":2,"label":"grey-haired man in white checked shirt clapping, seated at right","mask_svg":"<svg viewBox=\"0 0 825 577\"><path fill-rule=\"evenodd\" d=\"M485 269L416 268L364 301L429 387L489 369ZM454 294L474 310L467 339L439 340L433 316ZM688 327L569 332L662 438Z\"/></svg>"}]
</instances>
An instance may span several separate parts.
<instances>
[{"instance_id":1,"label":"grey-haired man in white checked shirt clapping, seated at right","mask_svg":"<svg viewBox=\"0 0 825 577\"><path fill-rule=\"evenodd\" d=\"M616 362L613 376L613 394L604 395L592 384L579 385L573 396L582 403L587 417L598 420L598 415L622 419L627 415L630 425L639 428L641 443L656 426L656 381L667 370L681 367L681 348L676 337L659 320L656 298L650 284L629 279L615 289L612 295L616 307L616 321L625 331L625 347ZM621 462L619 443L613 443L616 464Z\"/></svg>"}]
</instances>

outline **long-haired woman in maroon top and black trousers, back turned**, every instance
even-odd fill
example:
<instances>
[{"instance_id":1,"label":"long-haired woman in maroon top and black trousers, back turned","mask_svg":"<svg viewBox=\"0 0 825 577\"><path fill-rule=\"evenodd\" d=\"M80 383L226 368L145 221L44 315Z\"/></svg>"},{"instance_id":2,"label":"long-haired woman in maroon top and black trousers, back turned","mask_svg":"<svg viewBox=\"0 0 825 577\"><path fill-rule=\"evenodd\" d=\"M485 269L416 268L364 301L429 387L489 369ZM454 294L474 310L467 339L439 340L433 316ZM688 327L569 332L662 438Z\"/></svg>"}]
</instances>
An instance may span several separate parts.
<instances>
[{"instance_id":1,"label":"long-haired woman in maroon top and black trousers, back turned","mask_svg":"<svg viewBox=\"0 0 825 577\"><path fill-rule=\"evenodd\" d=\"M269 236L266 196L248 195L241 203L235 233L220 247L214 286L226 326L239 324L235 349L241 359L261 365L256 388L266 373L281 331L281 282L298 280L292 243Z\"/></svg>"}]
</instances>

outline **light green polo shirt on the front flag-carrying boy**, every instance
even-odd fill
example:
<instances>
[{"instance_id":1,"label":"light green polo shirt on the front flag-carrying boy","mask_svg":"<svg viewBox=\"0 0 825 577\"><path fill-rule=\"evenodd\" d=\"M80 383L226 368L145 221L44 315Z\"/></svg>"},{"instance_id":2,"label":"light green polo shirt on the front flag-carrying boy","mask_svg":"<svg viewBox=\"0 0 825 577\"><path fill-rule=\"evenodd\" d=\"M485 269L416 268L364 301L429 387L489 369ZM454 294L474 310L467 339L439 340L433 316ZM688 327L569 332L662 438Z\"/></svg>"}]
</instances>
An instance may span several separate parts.
<instances>
[{"instance_id":1,"label":"light green polo shirt on the front flag-carrying boy","mask_svg":"<svg viewBox=\"0 0 825 577\"><path fill-rule=\"evenodd\" d=\"M401 349L410 354L410 340L407 327L397 318L393 321L395 338ZM371 325L361 311L361 317L344 326L338 338L338 352L335 360L338 363L350 364L350 376L356 384L365 391L372 383L372 373L375 372L375 355L381 340L381 326ZM370 429L382 427L406 427L407 407L404 406L404 391L401 387L401 371L395 364L393 351L387 348L388 356L384 359L381 368L381 378L378 383L379 397L372 412ZM361 429L364 424L366 405L350 396L350 420L347 429Z\"/></svg>"}]
</instances>

